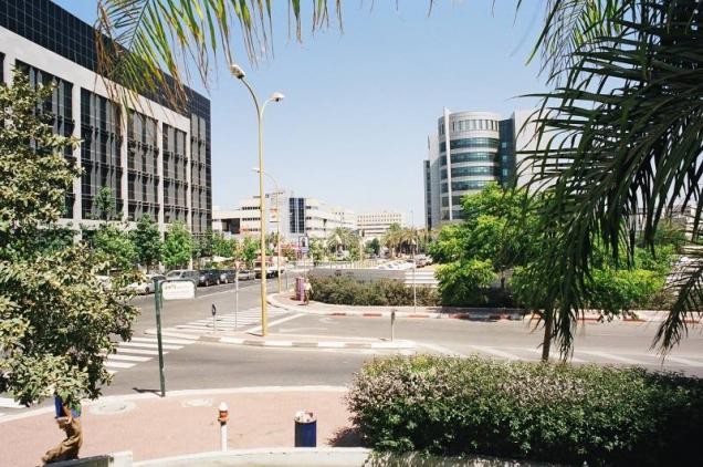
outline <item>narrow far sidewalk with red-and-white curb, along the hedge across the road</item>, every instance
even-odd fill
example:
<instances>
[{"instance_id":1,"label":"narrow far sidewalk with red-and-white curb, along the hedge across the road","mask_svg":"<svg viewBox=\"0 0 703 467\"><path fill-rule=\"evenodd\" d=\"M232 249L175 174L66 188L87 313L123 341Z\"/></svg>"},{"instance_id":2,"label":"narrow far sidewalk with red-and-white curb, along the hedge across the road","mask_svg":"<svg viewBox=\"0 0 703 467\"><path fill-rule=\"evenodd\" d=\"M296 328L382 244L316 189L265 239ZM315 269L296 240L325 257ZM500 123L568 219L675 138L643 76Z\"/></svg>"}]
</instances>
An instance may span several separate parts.
<instances>
[{"instance_id":1,"label":"narrow far sidewalk with red-and-white curb, along the hedge across the road","mask_svg":"<svg viewBox=\"0 0 703 467\"><path fill-rule=\"evenodd\" d=\"M532 313L525 313L521 309L500 308L452 308L452 307L354 307L343 304L329 304L311 301L308 305L295 300L292 292L271 293L267 297L271 305L282 308L296 313L323 314L329 316L363 316L363 318L390 318L391 311L396 311L397 318L426 318L426 319L457 319L469 321L522 321L537 319ZM660 310L632 310L636 318L621 318L627 322L662 322L668 313ZM597 312L586 312L579 321L599 321ZM685 319L689 324L703 322L703 319Z\"/></svg>"}]
</instances>

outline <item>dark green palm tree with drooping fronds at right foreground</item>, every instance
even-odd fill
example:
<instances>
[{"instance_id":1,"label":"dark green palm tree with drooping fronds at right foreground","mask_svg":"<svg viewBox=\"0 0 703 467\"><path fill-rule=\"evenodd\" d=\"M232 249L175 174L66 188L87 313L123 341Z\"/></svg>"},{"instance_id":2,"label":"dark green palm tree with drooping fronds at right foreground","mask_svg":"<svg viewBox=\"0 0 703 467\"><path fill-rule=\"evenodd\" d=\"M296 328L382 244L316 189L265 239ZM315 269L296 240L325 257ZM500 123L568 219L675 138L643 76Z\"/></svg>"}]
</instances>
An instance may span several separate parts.
<instances>
[{"instance_id":1,"label":"dark green palm tree with drooping fronds at right foreground","mask_svg":"<svg viewBox=\"0 0 703 467\"><path fill-rule=\"evenodd\" d=\"M544 288L543 356L552 340L563 356L571 349L588 302L592 243L602 240L616 260L626 251L629 267L636 231L651 247L662 214L681 204L694 211L692 261L655 336L665 352L685 335L685 318L703 310L703 1L552 0L550 7L541 44L556 58L547 63L557 87L543 95L542 149L532 154L533 186L553 186L542 212L548 241L533 270ZM565 34L565 24L587 34Z\"/></svg>"}]
</instances>

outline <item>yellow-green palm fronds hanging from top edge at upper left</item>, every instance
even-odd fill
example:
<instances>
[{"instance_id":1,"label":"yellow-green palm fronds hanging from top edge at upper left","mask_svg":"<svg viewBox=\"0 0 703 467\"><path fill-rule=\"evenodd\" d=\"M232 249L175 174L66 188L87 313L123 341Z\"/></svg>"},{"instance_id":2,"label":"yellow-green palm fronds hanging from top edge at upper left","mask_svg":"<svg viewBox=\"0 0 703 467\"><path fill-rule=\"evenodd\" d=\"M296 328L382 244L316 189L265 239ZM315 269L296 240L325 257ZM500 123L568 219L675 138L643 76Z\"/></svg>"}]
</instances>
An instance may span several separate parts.
<instances>
[{"instance_id":1,"label":"yellow-green palm fronds hanging from top edge at upper left","mask_svg":"<svg viewBox=\"0 0 703 467\"><path fill-rule=\"evenodd\" d=\"M313 1L313 30L328 24L328 2ZM301 2L290 6L300 40ZM182 104L193 68L207 89L211 58L233 61L238 29L252 64L272 53L273 8L271 0L99 0L98 71L113 97L126 89ZM335 0L335 8L342 25L342 0Z\"/></svg>"}]
</instances>

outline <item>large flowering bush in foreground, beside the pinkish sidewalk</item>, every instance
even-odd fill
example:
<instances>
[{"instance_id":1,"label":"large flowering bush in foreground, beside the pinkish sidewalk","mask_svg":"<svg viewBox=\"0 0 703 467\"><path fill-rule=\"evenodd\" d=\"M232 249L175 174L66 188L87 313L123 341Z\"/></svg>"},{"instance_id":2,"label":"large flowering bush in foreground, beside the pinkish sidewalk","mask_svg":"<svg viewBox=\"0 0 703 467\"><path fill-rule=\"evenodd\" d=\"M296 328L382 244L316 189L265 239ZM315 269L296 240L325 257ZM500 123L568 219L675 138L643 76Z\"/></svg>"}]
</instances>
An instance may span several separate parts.
<instances>
[{"instance_id":1,"label":"large flowering bush in foreground, beside the pinkish sidewalk","mask_svg":"<svg viewBox=\"0 0 703 467\"><path fill-rule=\"evenodd\" d=\"M378 450L700 465L703 383L676 374L419 355L366 363L347 404Z\"/></svg>"}]
</instances>

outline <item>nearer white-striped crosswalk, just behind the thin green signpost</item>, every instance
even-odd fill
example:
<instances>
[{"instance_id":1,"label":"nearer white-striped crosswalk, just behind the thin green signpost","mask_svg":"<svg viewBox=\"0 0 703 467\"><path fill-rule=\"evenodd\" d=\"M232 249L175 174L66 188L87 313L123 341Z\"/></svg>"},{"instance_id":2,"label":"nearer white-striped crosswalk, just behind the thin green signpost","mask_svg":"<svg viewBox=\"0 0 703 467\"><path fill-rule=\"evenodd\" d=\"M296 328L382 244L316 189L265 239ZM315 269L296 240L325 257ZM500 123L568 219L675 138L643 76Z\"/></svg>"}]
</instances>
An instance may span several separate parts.
<instances>
[{"instance_id":1,"label":"nearer white-striped crosswalk, just behind the thin green signpost","mask_svg":"<svg viewBox=\"0 0 703 467\"><path fill-rule=\"evenodd\" d=\"M165 336L161 339L161 347L166 355L169 351L182 349L198 340L198 336L179 335ZM117 352L107 355L105 367L109 374L115 374L120 370L130 369L139 363L148 362L158 356L158 340L156 336L132 338L129 342L120 342Z\"/></svg>"}]
</instances>

